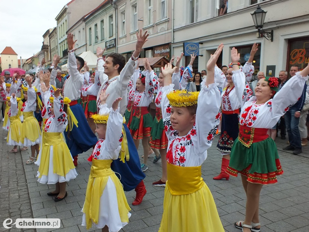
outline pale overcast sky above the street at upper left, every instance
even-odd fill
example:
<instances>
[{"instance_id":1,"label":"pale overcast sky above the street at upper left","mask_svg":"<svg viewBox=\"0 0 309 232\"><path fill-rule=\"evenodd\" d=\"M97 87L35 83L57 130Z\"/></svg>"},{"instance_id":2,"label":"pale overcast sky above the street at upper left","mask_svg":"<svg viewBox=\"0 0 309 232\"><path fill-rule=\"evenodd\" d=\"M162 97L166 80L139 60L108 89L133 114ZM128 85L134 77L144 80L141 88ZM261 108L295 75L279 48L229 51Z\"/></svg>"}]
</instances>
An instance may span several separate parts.
<instances>
[{"instance_id":1,"label":"pale overcast sky above the street at upper left","mask_svg":"<svg viewBox=\"0 0 309 232\"><path fill-rule=\"evenodd\" d=\"M41 50L43 34L57 26L55 20L70 0L1 0L0 53L8 46L22 59Z\"/></svg>"}]
</instances>

